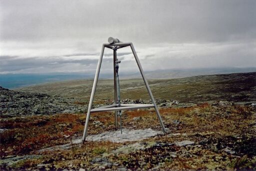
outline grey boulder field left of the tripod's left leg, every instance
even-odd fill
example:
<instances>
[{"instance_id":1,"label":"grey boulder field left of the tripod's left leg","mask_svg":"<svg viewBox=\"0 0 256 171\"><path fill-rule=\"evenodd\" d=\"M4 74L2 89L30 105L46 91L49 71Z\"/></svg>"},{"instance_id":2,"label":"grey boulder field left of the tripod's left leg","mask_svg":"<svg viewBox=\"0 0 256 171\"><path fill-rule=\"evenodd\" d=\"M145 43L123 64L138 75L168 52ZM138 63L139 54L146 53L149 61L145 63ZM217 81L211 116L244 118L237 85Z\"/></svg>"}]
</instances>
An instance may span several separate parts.
<instances>
[{"instance_id":1,"label":"grey boulder field left of the tripod's left leg","mask_svg":"<svg viewBox=\"0 0 256 171\"><path fill-rule=\"evenodd\" d=\"M76 102L74 98L12 91L0 87L0 115L5 116L79 113L87 110L86 104Z\"/></svg>"}]
</instances>

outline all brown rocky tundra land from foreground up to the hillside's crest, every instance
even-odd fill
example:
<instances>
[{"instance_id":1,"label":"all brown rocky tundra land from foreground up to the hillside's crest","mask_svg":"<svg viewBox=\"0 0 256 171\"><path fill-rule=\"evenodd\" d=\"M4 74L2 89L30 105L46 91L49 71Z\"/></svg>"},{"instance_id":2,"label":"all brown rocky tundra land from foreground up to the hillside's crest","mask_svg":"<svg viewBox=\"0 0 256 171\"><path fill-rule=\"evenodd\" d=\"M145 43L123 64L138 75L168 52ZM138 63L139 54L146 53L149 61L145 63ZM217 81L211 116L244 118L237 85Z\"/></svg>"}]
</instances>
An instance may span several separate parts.
<instances>
[{"instance_id":1,"label":"all brown rocky tundra land from foreground up to the hillside's crest","mask_svg":"<svg viewBox=\"0 0 256 171\"><path fill-rule=\"evenodd\" d=\"M0 170L256 170L255 74L151 80L167 135L153 109L123 111L123 134L113 112L92 113L83 145L90 84L0 87ZM93 107L113 103L102 81ZM121 82L122 103L150 103L141 82Z\"/></svg>"}]
</instances>

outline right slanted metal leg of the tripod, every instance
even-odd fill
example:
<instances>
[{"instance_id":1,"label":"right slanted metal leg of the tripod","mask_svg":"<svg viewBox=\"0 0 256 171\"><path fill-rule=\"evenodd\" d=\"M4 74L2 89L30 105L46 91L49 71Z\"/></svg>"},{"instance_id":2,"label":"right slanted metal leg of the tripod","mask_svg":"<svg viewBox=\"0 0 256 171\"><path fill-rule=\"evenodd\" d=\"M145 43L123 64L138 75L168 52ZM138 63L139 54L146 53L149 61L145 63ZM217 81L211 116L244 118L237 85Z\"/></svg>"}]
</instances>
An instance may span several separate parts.
<instances>
[{"instance_id":1,"label":"right slanted metal leg of the tripod","mask_svg":"<svg viewBox=\"0 0 256 171\"><path fill-rule=\"evenodd\" d=\"M156 112L156 116L157 116L157 118L158 118L158 120L159 120L159 122L160 122L160 126L161 126L161 128L162 128L162 131L163 131L163 133L166 135L167 133L166 133L165 127L164 127L164 125L163 125L162 118L161 118L160 113L159 113L159 111L158 111L158 108L157 108L157 106L156 106L156 104L155 104L154 97L153 97L153 95L152 95L151 89L150 89L150 87L149 87L149 85L148 85L148 83L147 83L147 80L146 80L146 78L145 78L144 72L143 72L143 70L142 70L142 67L141 67L141 65L140 65L140 62L139 62L139 60L138 60L138 56L137 56L137 54L136 54L136 52L135 52L135 49L134 49L132 43L130 43L130 48L131 48L131 51L132 51L132 53L133 53L133 55L134 55L134 57L135 57L135 60L136 60L136 62L137 62L137 65L138 65L139 71L140 71L140 73L141 73L141 76L142 76L142 78L143 78L143 80L144 80L144 83L145 83L145 85L146 85L147 92L148 92L148 94L149 94L149 96L150 96L150 98L151 98L151 101L152 101L153 105L154 105L154 109L155 109L155 112Z\"/></svg>"}]
</instances>

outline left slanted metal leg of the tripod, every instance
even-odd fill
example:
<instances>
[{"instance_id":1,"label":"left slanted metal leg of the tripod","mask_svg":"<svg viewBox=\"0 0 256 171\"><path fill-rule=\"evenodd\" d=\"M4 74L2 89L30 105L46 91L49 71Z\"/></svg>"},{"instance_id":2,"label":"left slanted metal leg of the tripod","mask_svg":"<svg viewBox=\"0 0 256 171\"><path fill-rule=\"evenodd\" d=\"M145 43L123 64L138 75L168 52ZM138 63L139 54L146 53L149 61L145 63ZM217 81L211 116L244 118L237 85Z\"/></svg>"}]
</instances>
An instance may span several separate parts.
<instances>
[{"instance_id":1,"label":"left slanted metal leg of the tripod","mask_svg":"<svg viewBox=\"0 0 256 171\"><path fill-rule=\"evenodd\" d=\"M92 90L91 90L91 94L90 94L90 102L89 102L89 106L88 106L88 110L87 110L87 116L86 116L86 121L84 124L84 130L83 130L83 135L82 135L82 144L85 141L87 130L88 130L88 124L89 124L89 119L90 119L90 110L91 110L93 99L94 99L94 94L95 94L96 85L97 85L97 81L98 81L98 75L99 75L99 71L100 71L103 53L104 53L104 45L102 45L102 49L101 49L100 57L98 59L98 65L97 65L97 69L96 69L96 73L95 73L95 77L94 77L94 81L93 81L93 86L92 86Z\"/></svg>"}]
</instances>

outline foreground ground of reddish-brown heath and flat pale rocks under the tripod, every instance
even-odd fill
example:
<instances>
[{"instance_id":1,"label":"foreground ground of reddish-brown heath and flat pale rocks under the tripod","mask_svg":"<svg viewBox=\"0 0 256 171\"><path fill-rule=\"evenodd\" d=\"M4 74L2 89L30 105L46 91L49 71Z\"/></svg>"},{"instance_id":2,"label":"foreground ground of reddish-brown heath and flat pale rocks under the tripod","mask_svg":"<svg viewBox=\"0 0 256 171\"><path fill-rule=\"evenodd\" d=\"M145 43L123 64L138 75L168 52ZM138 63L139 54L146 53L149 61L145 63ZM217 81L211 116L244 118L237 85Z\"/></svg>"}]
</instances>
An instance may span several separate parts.
<instances>
[{"instance_id":1,"label":"foreground ground of reddish-brown heath and flat pale rocks under the tripod","mask_svg":"<svg viewBox=\"0 0 256 171\"><path fill-rule=\"evenodd\" d=\"M173 104L160 113L168 135L153 110L124 111L123 136L113 113L93 113L84 145L83 114L1 118L1 170L256 169L254 104Z\"/></svg>"}]
</instances>

